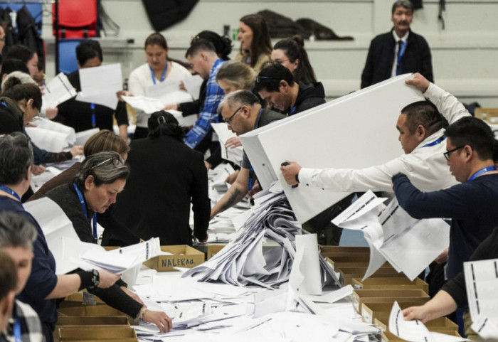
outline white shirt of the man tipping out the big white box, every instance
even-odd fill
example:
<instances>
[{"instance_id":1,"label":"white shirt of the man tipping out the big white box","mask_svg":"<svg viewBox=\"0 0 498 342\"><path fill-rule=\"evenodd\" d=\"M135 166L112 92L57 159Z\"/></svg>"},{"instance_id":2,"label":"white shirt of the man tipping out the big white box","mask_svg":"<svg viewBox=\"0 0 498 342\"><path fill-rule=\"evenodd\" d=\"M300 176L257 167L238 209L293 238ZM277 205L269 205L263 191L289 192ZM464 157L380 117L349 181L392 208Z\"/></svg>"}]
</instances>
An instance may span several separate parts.
<instances>
[{"instance_id":1,"label":"white shirt of the man tipping out the big white box","mask_svg":"<svg viewBox=\"0 0 498 342\"><path fill-rule=\"evenodd\" d=\"M469 112L449 92L430 83L425 97L433 102L443 116L452 124ZM403 154L386 164L366 169L307 169L299 173L301 186L314 186L329 191L388 191L393 192L391 177L405 173L413 185L421 191L435 191L454 186L458 182L450 173L445 156L446 140L434 146L425 144L443 137L440 129L418 144L410 154Z\"/></svg>"}]
</instances>

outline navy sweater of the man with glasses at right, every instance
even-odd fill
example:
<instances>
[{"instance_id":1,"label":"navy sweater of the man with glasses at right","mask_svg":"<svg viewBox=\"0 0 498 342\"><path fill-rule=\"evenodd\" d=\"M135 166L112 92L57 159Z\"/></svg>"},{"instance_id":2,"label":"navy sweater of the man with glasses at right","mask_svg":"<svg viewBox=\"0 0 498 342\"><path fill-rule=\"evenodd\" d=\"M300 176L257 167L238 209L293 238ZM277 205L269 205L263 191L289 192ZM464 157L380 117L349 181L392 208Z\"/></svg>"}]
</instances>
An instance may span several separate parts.
<instances>
[{"instance_id":1,"label":"navy sweater of the man with glasses at right","mask_svg":"<svg viewBox=\"0 0 498 342\"><path fill-rule=\"evenodd\" d=\"M408 177L393 176L393 188L401 208L413 218L451 218L450 250L446 275L463 270L478 245L498 225L498 173L475 178L440 191L423 193Z\"/></svg>"}]
</instances>

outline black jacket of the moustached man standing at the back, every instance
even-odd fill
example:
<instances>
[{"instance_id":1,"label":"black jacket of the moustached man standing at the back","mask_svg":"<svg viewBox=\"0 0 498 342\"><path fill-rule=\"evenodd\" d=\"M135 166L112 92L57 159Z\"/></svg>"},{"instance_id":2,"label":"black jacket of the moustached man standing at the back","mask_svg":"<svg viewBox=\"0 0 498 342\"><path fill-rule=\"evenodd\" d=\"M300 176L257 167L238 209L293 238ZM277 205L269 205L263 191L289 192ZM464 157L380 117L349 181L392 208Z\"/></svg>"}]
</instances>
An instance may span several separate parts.
<instances>
[{"instance_id":1,"label":"black jacket of the moustached man standing at the back","mask_svg":"<svg viewBox=\"0 0 498 342\"><path fill-rule=\"evenodd\" d=\"M361 88L391 78L395 46L396 41L392 30L373 38L365 68L361 73ZM401 74L404 73L421 73L429 82L434 82L433 64L428 43L423 36L412 31L408 35L406 50L401 57Z\"/></svg>"}]
</instances>

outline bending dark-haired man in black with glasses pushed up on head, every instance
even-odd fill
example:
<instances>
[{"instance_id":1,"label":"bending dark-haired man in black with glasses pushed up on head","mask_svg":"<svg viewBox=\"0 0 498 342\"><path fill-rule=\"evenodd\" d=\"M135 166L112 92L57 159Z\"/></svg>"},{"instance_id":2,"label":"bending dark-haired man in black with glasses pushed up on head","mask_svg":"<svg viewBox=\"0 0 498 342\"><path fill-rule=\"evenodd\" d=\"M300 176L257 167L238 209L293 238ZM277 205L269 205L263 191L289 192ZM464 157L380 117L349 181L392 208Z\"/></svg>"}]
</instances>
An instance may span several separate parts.
<instances>
[{"instance_id":1,"label":"bending dark-haired man in black with glasses pushed up on head","mask_svg":"<svg viewBox=\"0 0 498 342\"><path fill-rule=\"evenodd\" d=\"M290 70L277 63L261 70L254 91L267 102L267 107L277 108L289 116L325 103L322 83L295 82Z\"/></svg>"}]
</instances>

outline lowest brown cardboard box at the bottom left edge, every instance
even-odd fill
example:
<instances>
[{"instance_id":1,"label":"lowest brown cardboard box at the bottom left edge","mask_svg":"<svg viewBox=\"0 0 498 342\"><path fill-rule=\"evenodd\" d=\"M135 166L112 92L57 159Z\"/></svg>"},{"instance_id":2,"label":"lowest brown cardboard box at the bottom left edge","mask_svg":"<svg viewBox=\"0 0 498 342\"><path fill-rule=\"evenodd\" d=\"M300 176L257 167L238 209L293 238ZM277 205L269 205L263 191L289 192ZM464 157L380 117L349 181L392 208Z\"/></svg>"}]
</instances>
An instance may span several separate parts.
<instances>
[{"instance_id":1,"label":"lowest brown cardboard box at the bottom left edge","mask_svg":"<svg viewBox=\"0 0 498 342\"><path fill-rule=\"evenodd\" d=\"M130 338L137 341L135 329L129 326L100 328L58 328L59 341L86 341ZM131 341L131 340L130 340Z\"/></svg>"}]
</instances>

